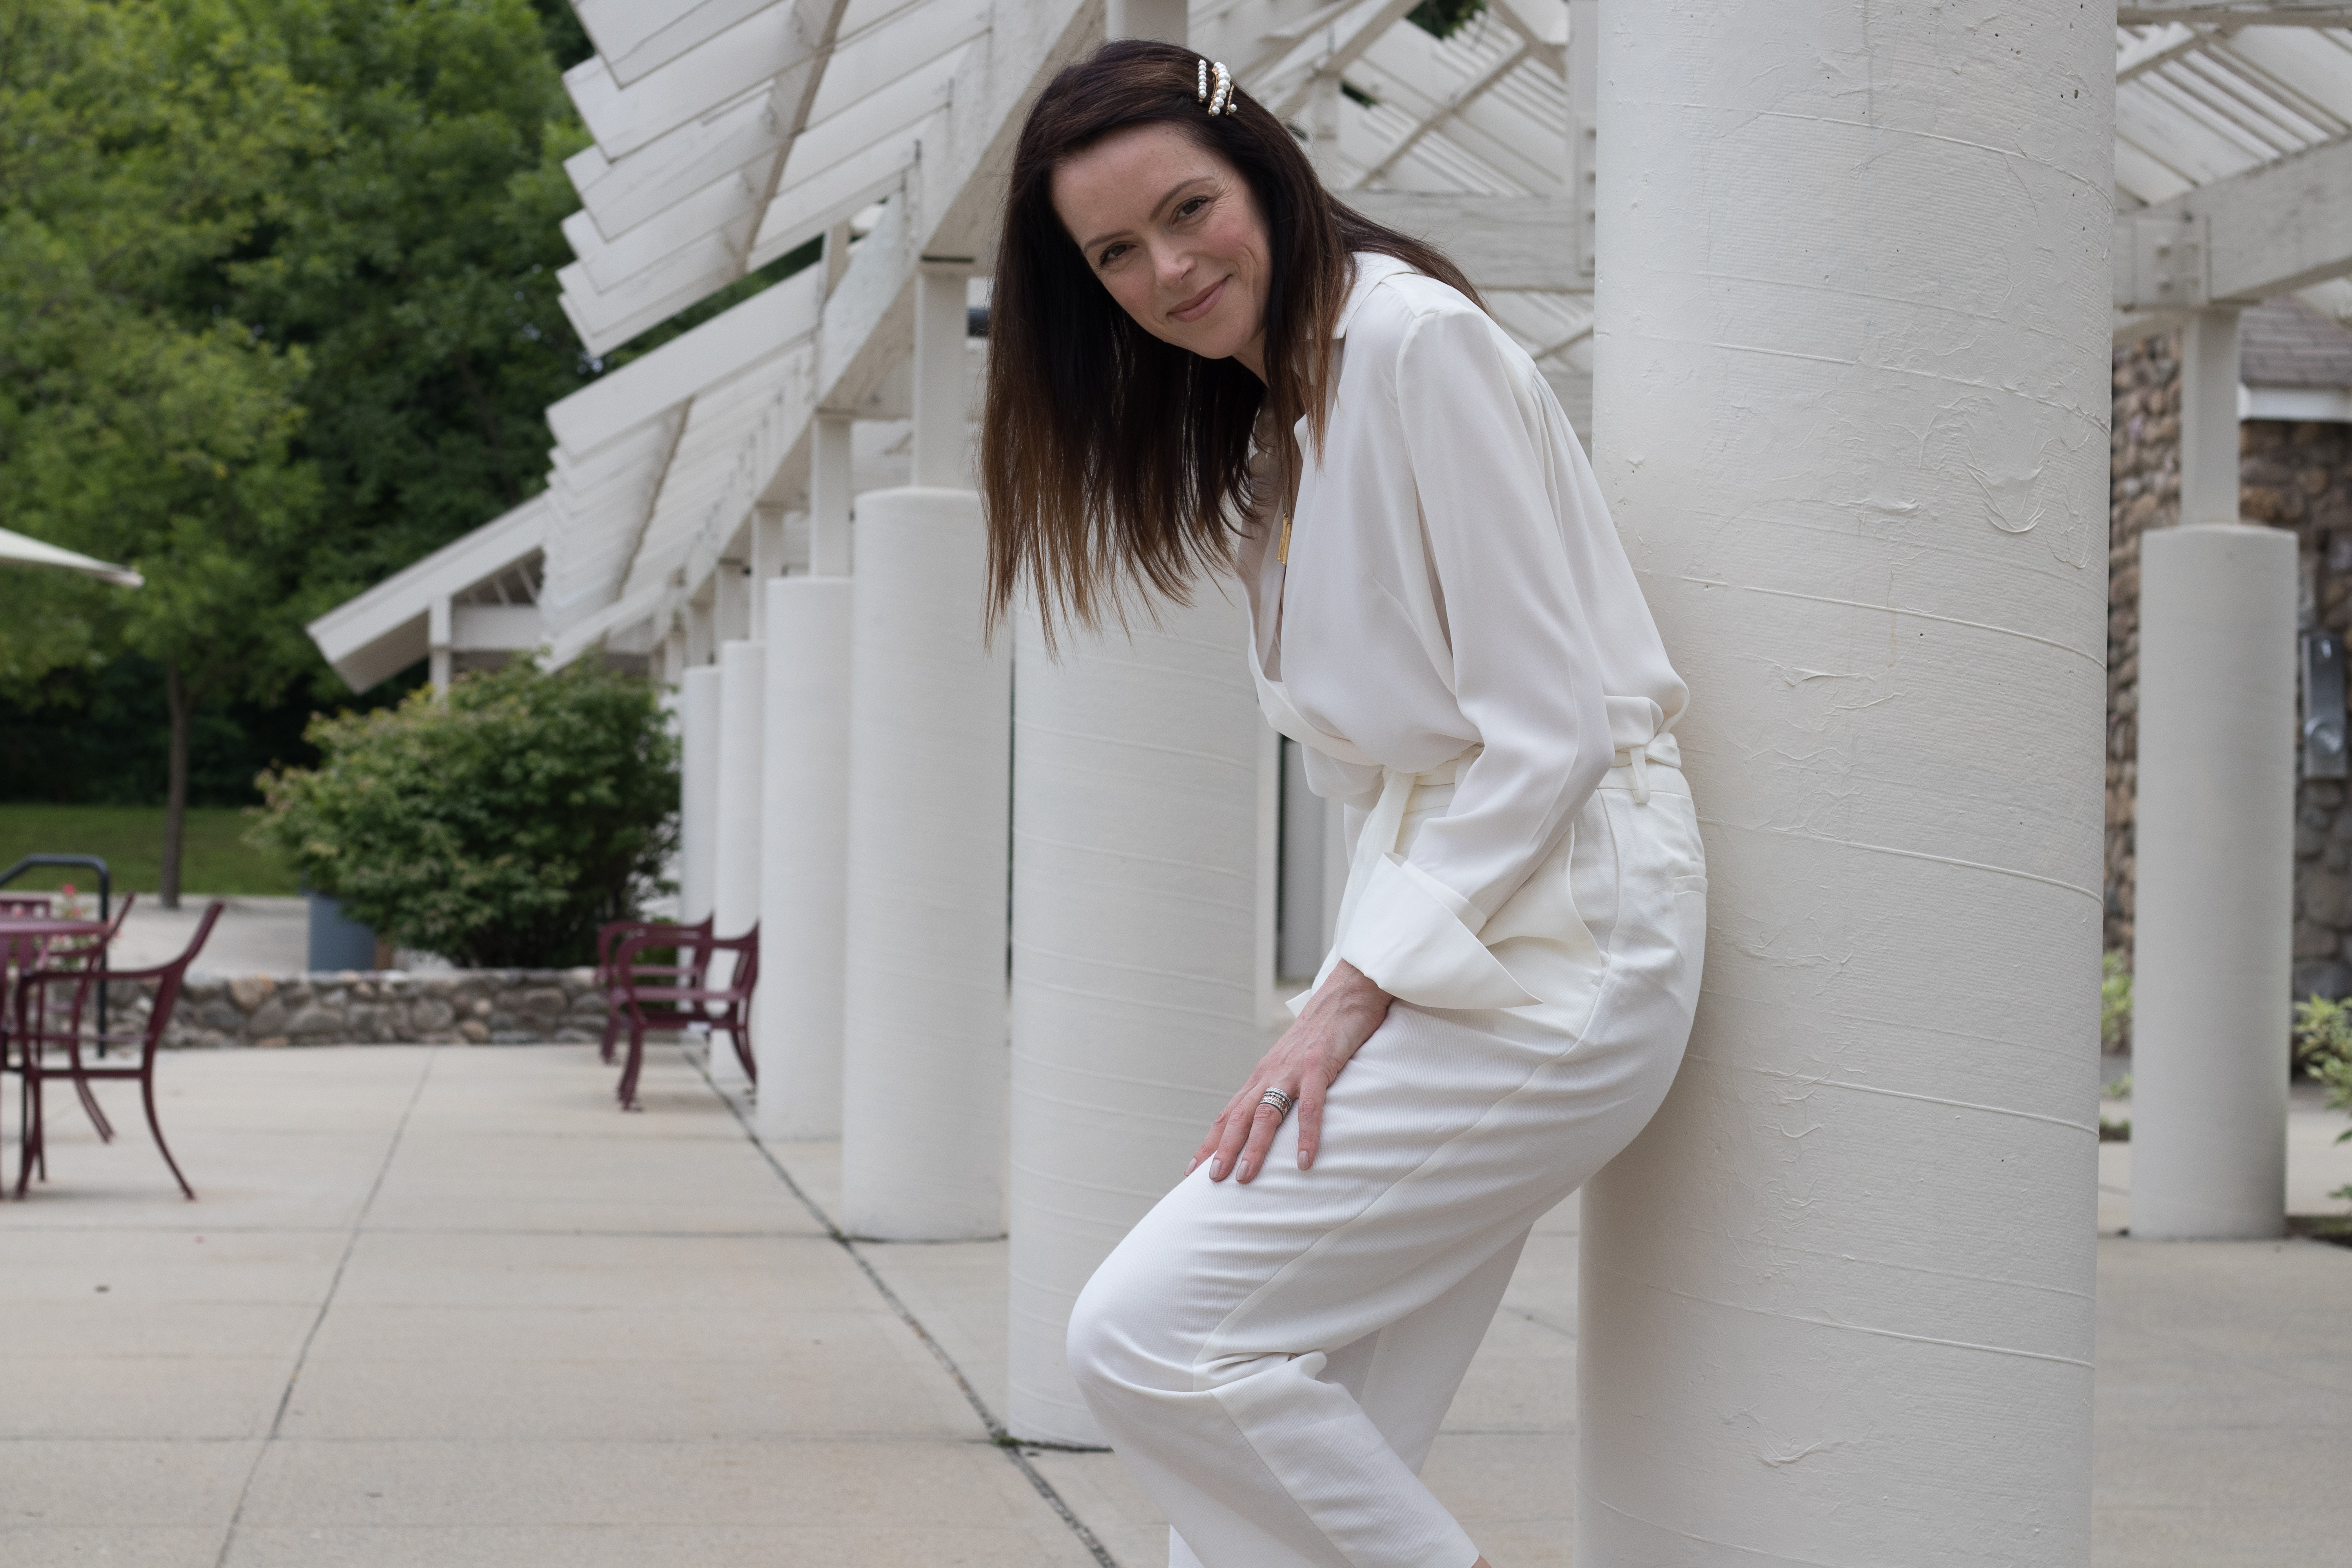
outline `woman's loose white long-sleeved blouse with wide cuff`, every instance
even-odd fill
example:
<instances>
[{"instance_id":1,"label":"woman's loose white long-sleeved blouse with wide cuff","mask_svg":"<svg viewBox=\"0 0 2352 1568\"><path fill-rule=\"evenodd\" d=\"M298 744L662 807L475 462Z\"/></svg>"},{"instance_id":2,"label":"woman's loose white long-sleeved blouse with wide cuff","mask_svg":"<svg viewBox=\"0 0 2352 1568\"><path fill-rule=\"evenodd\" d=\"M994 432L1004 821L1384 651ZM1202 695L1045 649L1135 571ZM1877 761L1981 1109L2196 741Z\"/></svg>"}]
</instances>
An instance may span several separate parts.
<instances>
[{"instance_id":1,"label":"woman's loose white long-sleeved blouse with wide cuff","mask_svg":"<svg viewBox=\"0 0 2352 1568\"><path fill-rule=\"evenodd\" d=\"M1477 748L1444 816L1390 856L1402 875L1355 891L1336 957L1367 954L1357 969L1381 983L1376 954L1475 952L1458 983L1383 990L1479 1006L1468 969L1486 954L1461 929L1477 936L1689 689L1526 350L1456 289L1374 254L1355 259L1338 336L1319 451L1298 423L1289 562L1279 496L1237 552L1251 665L1268 719L1305 748L1308 788L1345 802L1350 827L1390 771Z\"/></svg>"}]
</instances>

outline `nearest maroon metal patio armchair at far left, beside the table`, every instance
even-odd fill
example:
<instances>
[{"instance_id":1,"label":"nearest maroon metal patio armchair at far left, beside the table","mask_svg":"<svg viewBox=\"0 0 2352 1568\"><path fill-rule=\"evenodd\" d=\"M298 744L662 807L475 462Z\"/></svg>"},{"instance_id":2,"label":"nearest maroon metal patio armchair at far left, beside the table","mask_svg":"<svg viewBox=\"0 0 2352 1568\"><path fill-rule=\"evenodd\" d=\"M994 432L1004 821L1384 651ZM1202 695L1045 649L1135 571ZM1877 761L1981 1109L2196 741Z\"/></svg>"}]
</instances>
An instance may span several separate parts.
<instances>
[{"instance_id":1,"label":"nearest maroon metal patio armchair at far left, beside the table","mask_svg":"<svg viewBox=\"0 0 2352 1568\"><path fill-rule=\"evenodd\" d=\"M89 1098L89 1084L99 1079L136 1079L148 1131L155 1133L155 1150L162 1152L162 1164L172 1166L172 1180L179 1182L179 1190L188 1199L195 1199L195 1187L181 1175L179 1161L172 1159L172 1145L162 1140L162 1124L155 1119L155 1051L162 1046L165 1030L172 1027L172 1011L179 1006L179 990L188 978L188 964L205 947L205 938L212 936L212 924L221 919L223 907L219 898L205 905L205 917L195 924L195 938L188 943L188 950L158 969L103 971L96 964L82 964L80 969L35 969L16 978L16 1027L9 1039L9 1058L0 1067L24 1077L24 1147L16 1164L19 1199L35 1166L40 1168L40 1178L49 1180L40 1114L40 1091L49 1079L73 1079L75 1091L82 1093L82 1105L89 1107L99 1135L106 1140L113 1140L115 1128L96 1110L96 1100ZM155 987L155 1006L148 1011L143 1030L136 1034L99 1032L96 987L106 983ZM136 1058L106 1065L85 1058L85 1051L103 1046L132 1046Z\"/></svg>"}]
</instances>

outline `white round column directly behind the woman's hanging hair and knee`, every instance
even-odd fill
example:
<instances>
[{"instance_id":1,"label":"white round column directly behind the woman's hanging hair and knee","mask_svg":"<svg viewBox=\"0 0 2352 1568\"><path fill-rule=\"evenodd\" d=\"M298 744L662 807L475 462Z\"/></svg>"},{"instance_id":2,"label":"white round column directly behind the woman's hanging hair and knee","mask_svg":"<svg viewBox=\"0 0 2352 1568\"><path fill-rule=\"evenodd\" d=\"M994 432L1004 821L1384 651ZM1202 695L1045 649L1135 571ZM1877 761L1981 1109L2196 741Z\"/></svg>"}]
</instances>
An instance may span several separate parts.
<instances>
[{"instance_id":1,"label":"white round column directly behind the woman's hanging hair and knee","mask_svg":"<svg viewBox=\"0 0 2352 1568\"><path fill-rule=\"evenodd\" d=\"M1261 1051L1249 616L1014 651L1014 1436L1101 1443L1063 1366L1070 1302Z\"/></svg>"}]
</instances>

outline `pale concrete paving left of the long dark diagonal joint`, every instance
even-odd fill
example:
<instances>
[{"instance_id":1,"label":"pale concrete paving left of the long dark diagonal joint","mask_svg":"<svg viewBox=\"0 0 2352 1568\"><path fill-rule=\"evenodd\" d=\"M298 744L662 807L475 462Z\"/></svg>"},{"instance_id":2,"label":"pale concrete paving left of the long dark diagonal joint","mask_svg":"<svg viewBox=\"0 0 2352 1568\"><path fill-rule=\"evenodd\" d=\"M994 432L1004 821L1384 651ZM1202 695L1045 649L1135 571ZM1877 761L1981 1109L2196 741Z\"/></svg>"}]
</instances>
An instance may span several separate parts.
<instances>
[{"instance_id":1,"label":"pale concrete paving left of the long dark diagonal joint","mask_svg":"<svg viewBox=\"0 0 2352 1568\"><path fill-rule=\"evenodd\" d=\"M1096 1559L675 1053L183 1053L0 1206L0 1561ZM9 1145L14 1154L14 1145Z\"/></svg>"}]
</instances>

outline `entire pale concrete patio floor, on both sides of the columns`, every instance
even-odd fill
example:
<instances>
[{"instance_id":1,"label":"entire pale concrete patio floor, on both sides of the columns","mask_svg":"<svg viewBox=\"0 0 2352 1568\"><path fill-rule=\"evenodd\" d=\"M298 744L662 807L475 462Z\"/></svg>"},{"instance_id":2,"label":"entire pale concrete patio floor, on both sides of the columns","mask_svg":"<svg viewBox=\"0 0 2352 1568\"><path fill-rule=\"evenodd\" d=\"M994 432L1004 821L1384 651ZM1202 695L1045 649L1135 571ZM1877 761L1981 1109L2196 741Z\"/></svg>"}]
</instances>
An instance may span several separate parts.
<instances>
[{"instance_id":1,"label":"entire pale concrete patio floor, on both sides of the columns","mask_svg":"<svg viewBox=\"0 0 2352 1568\"><path fill-rule=\"evenodd\" d=\"M198 1204L134 1103L101 1147L56 1095L0 1206L0 1563L1167 1561L1112 1455L990 1441L1002 1241L844 1246L833 1145L771 1159L673 1048L640 1117L612 1077L174 1053ZM2343 1559L2347 1302L2345 1248L2100 1241L2098 1563ZM1428 1465L1498 1568L1569 1561L1573 1354L1571 1201Z\"/></svg>"}]
</instances>

